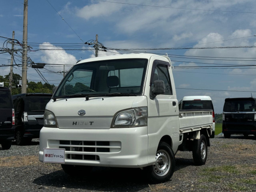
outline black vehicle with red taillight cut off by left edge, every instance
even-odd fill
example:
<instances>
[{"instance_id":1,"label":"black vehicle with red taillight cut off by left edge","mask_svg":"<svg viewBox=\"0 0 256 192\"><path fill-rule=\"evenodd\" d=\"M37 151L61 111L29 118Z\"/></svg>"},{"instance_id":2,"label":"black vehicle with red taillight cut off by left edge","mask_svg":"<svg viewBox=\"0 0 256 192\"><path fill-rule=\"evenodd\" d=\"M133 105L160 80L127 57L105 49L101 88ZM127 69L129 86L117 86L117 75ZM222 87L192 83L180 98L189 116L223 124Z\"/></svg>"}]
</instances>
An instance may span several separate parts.
<instances>
[{"instance_id":1,"label":"black vehicle with red taillight cut off by left edge","mask_svg":"<svg viewBox=\"0 0 256 192\"><path fill-rule=\"evenodd\" d=\"M14 139L14 109L10 89L0 86L0 144L9 149Z\"/></svg>"}]
</instances>

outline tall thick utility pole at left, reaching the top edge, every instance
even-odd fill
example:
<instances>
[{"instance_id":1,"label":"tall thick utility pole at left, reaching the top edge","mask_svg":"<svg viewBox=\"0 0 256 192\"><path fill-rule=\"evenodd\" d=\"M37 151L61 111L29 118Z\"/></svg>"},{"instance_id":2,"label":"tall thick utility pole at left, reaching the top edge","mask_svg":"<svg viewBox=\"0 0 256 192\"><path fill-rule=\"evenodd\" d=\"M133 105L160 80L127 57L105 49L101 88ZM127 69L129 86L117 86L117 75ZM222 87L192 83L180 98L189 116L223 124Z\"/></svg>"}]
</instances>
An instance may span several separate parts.
<instances>
[{"instance_id":1,"label":"tall thick utility pole at left, reaching the top edge","mask_svg":"<svg viewBox=\"0 0 256 192\"><path fill-rule=\"evenodd\" d=\"M28 0L24 0L21 93L27 93L27 59L28 59L27 51L28 51Z\"/></svg>"}]
</instances>

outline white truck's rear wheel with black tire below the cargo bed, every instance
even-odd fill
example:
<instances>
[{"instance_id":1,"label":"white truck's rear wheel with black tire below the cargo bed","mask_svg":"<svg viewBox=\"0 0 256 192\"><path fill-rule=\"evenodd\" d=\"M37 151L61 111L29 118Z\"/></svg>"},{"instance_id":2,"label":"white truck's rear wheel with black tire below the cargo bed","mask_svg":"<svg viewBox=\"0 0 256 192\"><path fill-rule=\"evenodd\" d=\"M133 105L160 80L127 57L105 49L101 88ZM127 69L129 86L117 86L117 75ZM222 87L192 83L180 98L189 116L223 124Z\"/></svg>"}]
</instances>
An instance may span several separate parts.
<instances>
[{"instance_id":1,"label":"white truck's rear wheel with black tire below the cargo bed","mask_svg":"<svg viewBox=\"0 0 256 192\"><path fill-rule=\"evenodd\" d=\"M200 135L200 139L194 140L192 154L196 165L205 164L207 159L207 140L204 135Z\"/></svg>"}]
</instances>

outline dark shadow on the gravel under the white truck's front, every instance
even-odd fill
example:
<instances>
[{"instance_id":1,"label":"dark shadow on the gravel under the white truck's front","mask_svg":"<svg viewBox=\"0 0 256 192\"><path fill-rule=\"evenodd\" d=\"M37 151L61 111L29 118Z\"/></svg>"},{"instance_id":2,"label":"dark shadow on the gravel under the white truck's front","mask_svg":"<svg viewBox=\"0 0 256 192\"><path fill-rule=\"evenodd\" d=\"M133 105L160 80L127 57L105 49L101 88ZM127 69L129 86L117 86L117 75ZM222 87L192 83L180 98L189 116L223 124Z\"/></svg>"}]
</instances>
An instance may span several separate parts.
<instances>
[{"instance_id":1,"label":"dark shadow on the gravel under the white truck's front","mask_svg":"<svg viewBox=\"0 0 256 192\"><path fill-rule=\"evenodd\" d=\"M94 167L85 177L71 177L62 170L50 172L36 178L33 183L39 186L56 188L86 189L90 191L139 191L148 189L144 172L132 168Z\"/></svg>"}]
</instances>

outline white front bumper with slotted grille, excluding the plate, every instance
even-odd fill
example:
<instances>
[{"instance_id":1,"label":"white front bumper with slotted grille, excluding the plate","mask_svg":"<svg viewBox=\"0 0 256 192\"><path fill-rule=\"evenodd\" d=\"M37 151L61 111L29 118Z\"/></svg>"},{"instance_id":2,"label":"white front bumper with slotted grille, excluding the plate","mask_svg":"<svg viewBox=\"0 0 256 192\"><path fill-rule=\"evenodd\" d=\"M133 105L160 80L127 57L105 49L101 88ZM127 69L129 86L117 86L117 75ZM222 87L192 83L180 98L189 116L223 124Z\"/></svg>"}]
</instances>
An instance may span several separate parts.
<instances>
[{"instance_id":1,"label":"white front bumper with slotted grille, excluding the plate","mask_svg":"<svg viewBox=\"0 0 256 192\"><path fill-rule=\"evenodd\" d=\"M65 148L65 164L145 167L148 162L147 126L112 129L59 129L40 131L39 160L44 148Z\"/></svg>"}]
</instances>

